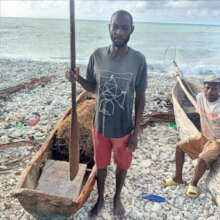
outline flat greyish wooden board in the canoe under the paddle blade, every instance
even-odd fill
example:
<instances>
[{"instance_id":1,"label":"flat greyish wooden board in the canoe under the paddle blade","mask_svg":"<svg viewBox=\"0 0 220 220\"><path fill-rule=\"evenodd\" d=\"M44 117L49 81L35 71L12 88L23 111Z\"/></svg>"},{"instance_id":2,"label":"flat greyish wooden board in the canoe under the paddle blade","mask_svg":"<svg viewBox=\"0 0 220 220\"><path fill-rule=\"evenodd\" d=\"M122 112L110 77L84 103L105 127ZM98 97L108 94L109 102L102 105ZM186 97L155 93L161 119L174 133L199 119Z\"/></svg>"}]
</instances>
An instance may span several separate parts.
<instances>
[{"instance_id":1,"label":"flat greyish wooden board in the canoe under the paddle blade","mask_svg":"<svg viewBox=\"0 0 220 220\"><path fill-rule=\"evenodd\" d=\"M69 180L69 163L48 160L38 181L36 190L76 201L78 199L86 164L79 164L79 171L73 181Z\"/></svg>"}]
</instances>

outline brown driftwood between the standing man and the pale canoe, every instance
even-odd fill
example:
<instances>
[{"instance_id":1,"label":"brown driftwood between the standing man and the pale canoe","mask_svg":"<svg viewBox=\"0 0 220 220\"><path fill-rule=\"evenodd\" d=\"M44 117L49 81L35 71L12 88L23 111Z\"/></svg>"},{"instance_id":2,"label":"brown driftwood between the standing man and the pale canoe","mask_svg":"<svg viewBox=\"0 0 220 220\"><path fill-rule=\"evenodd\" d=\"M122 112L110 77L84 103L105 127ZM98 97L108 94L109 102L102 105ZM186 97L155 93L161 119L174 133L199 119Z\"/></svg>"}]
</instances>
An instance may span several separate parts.
<instances>
[{"instance_id":1,"label":"brown driftwood between the standing man and the pale canoe","mask_svg":"<svg viewBox=\"0 0 220 220\"><path fill-rule=\"evenodd\" d=\"M175 123L175 117L173 112L154 112L152 114L143 115L142 127L151 125L153 122L173 122Z\"/></svg>"}]
</instances>

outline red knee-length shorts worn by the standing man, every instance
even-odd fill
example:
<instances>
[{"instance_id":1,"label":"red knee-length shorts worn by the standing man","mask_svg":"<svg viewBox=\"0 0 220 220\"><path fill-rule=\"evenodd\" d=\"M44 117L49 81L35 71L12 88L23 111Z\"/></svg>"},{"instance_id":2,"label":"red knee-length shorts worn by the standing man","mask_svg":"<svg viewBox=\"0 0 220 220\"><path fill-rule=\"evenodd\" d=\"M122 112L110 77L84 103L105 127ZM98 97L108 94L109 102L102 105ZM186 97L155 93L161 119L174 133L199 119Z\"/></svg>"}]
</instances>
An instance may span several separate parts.
<instances>
[{"instance_id":1,"label":"red knee-length shorts worn by the standing man","mask_svg":"<svg viewBox=\"0 0 220 220\"><path fill-rule=\"evenodd\" d=\"M106 138L92 128L94 145L94 160L98 169L106 168L111 161L112 148L114 149L114 161L117 167L127 170L132 161L132 152L127 150L131 134L122 138Z\"/></svg>"}]
</instances>

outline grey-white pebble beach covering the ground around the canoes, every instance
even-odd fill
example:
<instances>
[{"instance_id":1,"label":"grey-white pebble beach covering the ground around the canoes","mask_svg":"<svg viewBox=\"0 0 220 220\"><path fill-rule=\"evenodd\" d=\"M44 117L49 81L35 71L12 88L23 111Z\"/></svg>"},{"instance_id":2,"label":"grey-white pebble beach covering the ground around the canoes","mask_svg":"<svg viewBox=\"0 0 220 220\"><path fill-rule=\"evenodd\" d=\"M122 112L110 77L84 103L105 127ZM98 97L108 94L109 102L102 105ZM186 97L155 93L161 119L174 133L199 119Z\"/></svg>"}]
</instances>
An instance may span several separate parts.
<instances>
[{"instance_id":1,"label":"grey-white pebble beach covering the ground around the canoes","mask_svg":"<svg viewBox=\"0 0 220 220\"><path fill-rule=\"evenodd\" d=\"M23 89L8 98L0 99L0 144L23 140L47 140L50 131L64 111L71 105L71 85L65 79L69 64L27 60L0 60L0 90L27 82L32 78L54 75L52 80L33 90ZM86 66L80 66L85 72ZM200 81L199 78L192 80ZM175 85L175 79L168 73L148 73L145 113L168 111L165 100ZM77 90L81 88L77 86ZM155 100L160 100L155 101ZM22 125L21 121L40 118L35 125ZM185 185L164 187L161 180L175 172L175 144L178 132L169 123L154 123L143 129L137 150L128 170L122 190L122 202L126 209L124 219L169 219L169 220L218 220L220 209L212 200L205 186L206 175L199 182L200 195L190 199L185 195ZM11 196L22 170L39 149L38 145L0 148L0 219L33 220ZM196 161L186 156L184 180L188 183L193 176ZM1 170L4 170L2 172ZM115 165L108 167L105 188L105 206L98 220L113 219L113 195L115 191ZM142 193L165 198L158 203L142 198ZM96 185L83 207L71 218L87 219L87 213L97 199ZM70 218L70 219L71 219Z\"/></svg>"}]
</instances>

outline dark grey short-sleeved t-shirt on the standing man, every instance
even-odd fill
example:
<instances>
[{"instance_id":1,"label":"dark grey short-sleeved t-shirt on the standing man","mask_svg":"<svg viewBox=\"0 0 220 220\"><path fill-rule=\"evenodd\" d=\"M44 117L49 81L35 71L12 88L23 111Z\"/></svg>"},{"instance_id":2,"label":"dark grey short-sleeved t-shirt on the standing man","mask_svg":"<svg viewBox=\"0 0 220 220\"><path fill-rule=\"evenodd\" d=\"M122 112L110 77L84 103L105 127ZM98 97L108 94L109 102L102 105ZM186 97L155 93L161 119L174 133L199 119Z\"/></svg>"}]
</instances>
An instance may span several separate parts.
<instances>
[{"instance_id":1,"label":"dark grey short-sleeved t-shirt on the standing man","mask_svg":"<svg viewBox=\"0 0 220 220\"><path fill-rule=\"evenodd\" d=\"M90 57L86 79L96 87L94 129L108 138L120 138L134 128L132 110L135 92L145 92L145 57L128 48L128 54L115 60L109 47L97 49Z\"/></svg>"}]
</instances>

